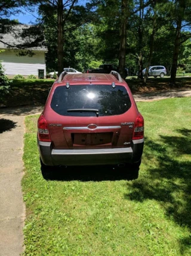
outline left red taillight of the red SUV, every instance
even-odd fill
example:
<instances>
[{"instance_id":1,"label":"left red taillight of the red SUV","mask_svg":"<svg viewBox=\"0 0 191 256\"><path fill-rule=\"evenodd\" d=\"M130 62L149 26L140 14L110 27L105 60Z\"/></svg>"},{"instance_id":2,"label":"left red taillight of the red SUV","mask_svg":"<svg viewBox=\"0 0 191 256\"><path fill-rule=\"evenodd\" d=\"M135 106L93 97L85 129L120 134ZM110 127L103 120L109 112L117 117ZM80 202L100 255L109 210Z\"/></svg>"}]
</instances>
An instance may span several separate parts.
<instances>
[{"instance_id":1,"label":"left red taillight of the red SUV","mask_svg":"<svg viewBox=\"0 0 191 256\"><path fill-rule=\"evenodd\" d=\"M38 138L40 141L51 141L48 131L48 124L43 115L41 115L38 119Z\"/></svg>"}]
</instances>

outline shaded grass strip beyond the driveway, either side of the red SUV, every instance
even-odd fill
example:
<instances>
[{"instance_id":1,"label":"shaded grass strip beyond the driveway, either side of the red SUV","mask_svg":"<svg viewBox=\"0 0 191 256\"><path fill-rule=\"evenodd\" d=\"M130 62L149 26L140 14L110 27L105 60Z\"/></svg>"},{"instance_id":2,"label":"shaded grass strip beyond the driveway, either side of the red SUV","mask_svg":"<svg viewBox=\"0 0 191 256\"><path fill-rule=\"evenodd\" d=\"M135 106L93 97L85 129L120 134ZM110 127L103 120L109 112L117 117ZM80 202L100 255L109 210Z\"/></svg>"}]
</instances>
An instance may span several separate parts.
<instances>
[{"instance_id":1,"label":"shaded grass strip beyond the driveway, either side of the red SUV","mask_svg":"<svg viewBox=\"0 0 191 256\"><path fill-rule=\"evenodd\" d=\"M133 93L161 91L171 89L170 77L147 79L147 85L143 86L142 81L137 77L127 77L128 85ZM10 83L10 93L5 95L0 106L39 106L44 105L48 96L48 88L54 83L54 79L13 79ZM177 77L177 88L191 88L191 77Z\"/></svg>"}]
</instances>

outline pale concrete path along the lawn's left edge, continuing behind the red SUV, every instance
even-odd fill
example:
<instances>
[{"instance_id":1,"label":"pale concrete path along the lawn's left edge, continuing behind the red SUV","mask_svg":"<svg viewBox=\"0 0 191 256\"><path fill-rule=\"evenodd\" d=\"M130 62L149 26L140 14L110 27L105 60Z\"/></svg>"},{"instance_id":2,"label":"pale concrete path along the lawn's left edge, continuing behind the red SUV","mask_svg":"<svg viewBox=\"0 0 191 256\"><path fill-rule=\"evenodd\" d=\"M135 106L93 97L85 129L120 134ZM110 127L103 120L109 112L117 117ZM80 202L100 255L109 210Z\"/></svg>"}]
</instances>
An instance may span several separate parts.
<instances>
[{"instance_id":1,"label":"pale concrete path along the lawn's left edge, continuing behind the red SUV","mask_svg":"<svg viewBox=\"0 0 191 256\"><path fill-rule=\"evenodd\" d=\"M135 94L135 101L191 97L190 89ZM42 112L42 107L0 109L0 256L19 256L23 248L25 207L23 177L24 117Z\"/></svg>"}]
</instances>

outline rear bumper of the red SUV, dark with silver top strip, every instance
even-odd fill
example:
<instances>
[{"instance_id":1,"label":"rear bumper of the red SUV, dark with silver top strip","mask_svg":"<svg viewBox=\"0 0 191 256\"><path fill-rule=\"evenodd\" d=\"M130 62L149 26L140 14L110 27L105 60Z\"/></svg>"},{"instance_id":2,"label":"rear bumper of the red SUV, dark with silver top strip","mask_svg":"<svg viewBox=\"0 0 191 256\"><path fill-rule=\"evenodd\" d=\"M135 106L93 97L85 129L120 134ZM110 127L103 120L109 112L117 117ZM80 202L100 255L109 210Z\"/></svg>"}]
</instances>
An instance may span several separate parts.
<instances>
[{"instance_id":1,"label":"rear bumper of the red SUV, dark with silver top strip","mask_svg":"<svg viewBox=\"0 0 191 256\"><path fill-rule=\"evenodd\" d=\"M38 141L45 165L115 165L138 162L143 153L144 139L135 140L131 147L113 149L52 149L51 142Z\"/></svg>"}]
</instances>

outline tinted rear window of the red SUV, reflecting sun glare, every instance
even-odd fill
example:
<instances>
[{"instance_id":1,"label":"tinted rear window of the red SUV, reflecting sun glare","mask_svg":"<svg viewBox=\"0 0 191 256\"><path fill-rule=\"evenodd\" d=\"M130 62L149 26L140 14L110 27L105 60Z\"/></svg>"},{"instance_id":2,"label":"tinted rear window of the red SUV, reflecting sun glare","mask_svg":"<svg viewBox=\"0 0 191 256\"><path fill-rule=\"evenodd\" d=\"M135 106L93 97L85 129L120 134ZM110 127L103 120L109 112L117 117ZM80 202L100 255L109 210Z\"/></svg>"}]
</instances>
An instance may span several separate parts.
<instances>
[{"instance_id":1,"label":"tinted rear window of the red SUV, reflecting sun glare","mask_svg":"<svg viewBox=\"0 0 191 256\"><path fill-rule=\"evenodd\" d=\"M124 86L72 85L59 86L51 100L51 109L62 116L121 115L131 107Z\"/></svg>"}]
</instances>

